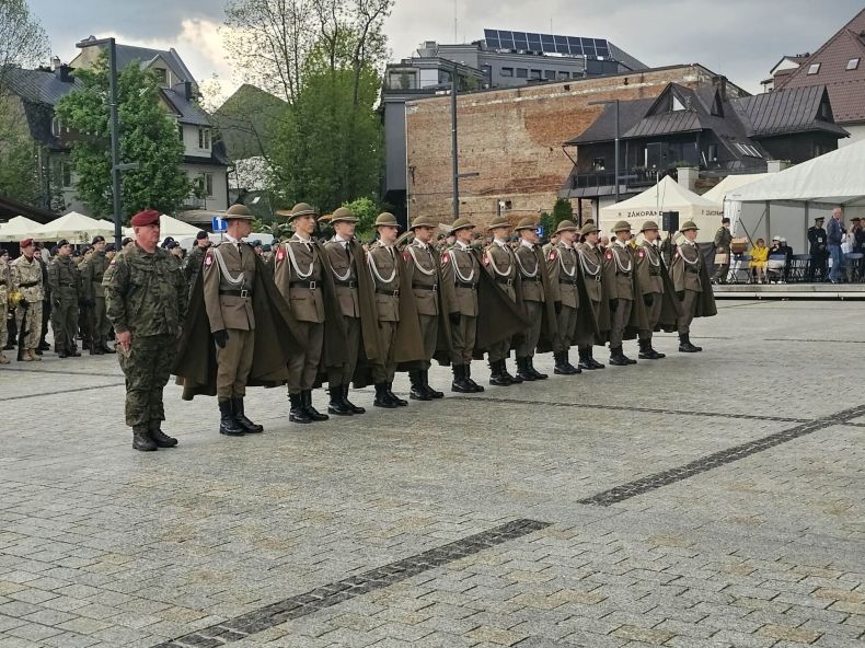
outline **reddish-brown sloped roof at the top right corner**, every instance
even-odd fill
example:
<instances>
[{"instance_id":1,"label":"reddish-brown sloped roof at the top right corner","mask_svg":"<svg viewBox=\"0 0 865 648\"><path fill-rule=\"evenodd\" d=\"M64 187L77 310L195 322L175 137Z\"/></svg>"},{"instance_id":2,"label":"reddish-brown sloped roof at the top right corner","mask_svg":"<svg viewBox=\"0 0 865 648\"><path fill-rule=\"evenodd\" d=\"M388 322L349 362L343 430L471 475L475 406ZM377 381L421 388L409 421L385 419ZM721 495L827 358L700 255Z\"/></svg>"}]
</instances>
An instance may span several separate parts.
<instances>
[{"instance_id":1,"label":"reddish-brown sloped roof at the top right corner","mask_svg":"<svg viewBox=\"0 0 865 648\"><path fill-rule=\"evenodd\" d=\"M860 58L855 70L846 63ZM820 63L815 74L808 74L814 63ZM841 27L793 73L778 79L776 88L826 85L832 101L838 124L865 121L865 9Z\"/></svg>"}]
</instances>

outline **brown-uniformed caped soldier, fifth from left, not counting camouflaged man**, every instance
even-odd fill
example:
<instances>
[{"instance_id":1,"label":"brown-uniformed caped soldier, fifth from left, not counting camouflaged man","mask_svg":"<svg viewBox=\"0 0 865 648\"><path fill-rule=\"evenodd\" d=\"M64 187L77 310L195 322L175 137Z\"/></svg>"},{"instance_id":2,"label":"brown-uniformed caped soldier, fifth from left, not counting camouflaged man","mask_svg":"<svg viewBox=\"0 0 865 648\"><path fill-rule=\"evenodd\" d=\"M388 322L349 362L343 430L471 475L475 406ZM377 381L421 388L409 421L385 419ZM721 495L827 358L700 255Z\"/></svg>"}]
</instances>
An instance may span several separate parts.
<instances>
[{"instance_id":1,"label":"brown-uniformed caped soldier, fifth from left, not counting camouflaged man","mask_svg":"<svg viewBox=\"0 0 865 648\"><path fill-rule=\"evenodd\" d=\"M411 230L415 238L405 246L403 259L405 261L406 279L411 281L417 306L424 358L420 361L420 369L408 372L412 383L408 397L415 401L431 401L445 396L443 393L429 386L429 367L438 346L439 319L447 314L441 303L442 277L439 256L432 246L436 223L428 217L420 216L412 222Z\"/></svg>"}]
</instances>

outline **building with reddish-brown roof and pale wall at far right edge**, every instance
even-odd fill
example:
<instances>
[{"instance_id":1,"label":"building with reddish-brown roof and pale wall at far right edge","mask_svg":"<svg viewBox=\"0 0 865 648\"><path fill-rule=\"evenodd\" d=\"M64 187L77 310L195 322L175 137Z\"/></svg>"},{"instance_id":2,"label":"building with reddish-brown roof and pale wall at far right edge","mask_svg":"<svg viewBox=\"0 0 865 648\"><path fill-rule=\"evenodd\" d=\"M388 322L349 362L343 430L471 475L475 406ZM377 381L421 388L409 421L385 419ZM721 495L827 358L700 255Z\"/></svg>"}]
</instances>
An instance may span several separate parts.
<instances>
[{"instance_id":1,"label":"building with reddish-brown roof and pale wall at far right edge","mask_svg":"<svg viewBox=\"0 0 865 648\"><path fill-rule=\"evenodd\" d=\"M774 91L826 86L834 120L850 138L865 139L865 9L807 57L785 57L772 70Z\"/></svg>"}]
</instances>

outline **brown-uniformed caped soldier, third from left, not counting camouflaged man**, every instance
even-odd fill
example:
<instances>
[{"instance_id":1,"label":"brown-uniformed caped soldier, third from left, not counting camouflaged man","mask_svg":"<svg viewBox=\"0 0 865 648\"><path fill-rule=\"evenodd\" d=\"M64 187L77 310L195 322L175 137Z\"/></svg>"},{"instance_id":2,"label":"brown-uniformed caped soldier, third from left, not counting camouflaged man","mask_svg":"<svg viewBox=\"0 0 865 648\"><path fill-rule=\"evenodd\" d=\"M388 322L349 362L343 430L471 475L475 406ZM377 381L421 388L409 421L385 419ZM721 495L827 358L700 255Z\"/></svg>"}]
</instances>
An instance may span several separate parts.
<instances>
[{"instance_id":1,"label":"brown-uniformed caped soldier, third from left, not counting camouflaged man","mask_svg":"<svg viewBox=\"0 0 865 648\"><path fill-rule=\"evenodd\" d=\"M331 402L327 412L337 416L364 414L366 409L348 400L348 387L355 375L358 359L374 364L378 360L378 316L374 287L367 271L364 246L355 240L357 218L339 207L331 216L334 236L324 244L330 262L336 299L343 316L347 354L339 364L327 361L327 382ZM325 360L327 356L325 355Z\"/></svg>"}]
</instances>

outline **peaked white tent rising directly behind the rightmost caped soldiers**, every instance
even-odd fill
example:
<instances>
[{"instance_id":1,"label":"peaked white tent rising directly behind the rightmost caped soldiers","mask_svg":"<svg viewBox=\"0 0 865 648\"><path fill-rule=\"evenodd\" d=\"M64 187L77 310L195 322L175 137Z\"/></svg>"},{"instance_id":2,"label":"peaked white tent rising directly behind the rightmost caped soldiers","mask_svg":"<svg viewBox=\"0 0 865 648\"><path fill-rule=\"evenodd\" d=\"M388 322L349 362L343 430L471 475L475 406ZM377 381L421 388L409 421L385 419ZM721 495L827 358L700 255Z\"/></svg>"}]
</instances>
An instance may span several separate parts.
<instances>
[{"instance_id":1,"label":"peaked white tent rising directly behind the rightmost caped soldiers","mask_svg":"<svg viewBox=\"0 0 865 648\"><path fill-rule=\"evenodd\" d=\"M720 222L723 207L719 202L713 202L688 190L668 175L633 198L601 208L598 227L610 232L616 221L626 220L638 232L647 220L654 220L661 225L662 211L678 211L679 224L692 220L700 228L701 236L697 241L712 241Z\"/></svg>"}]
</instances>

